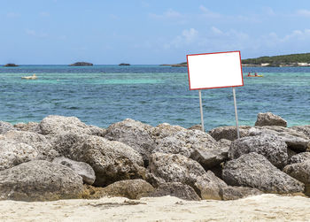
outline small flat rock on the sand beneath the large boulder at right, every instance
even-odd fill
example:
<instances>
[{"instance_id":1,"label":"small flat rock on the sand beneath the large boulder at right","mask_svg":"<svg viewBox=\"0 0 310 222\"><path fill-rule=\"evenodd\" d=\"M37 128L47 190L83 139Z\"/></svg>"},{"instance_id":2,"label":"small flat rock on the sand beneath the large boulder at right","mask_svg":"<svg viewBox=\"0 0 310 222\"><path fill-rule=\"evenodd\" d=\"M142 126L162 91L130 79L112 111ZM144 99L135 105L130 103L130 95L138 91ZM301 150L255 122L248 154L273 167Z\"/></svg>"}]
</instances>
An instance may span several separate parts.
<instances>
[{"instance_id":1,"label":"small flat rock on the sand beneath the large boulder at right","mask_svg":"<svg viewBox=\"0 0 310 222\"><path fill-rule=\"evenodd\" d=\"M244 188L244 187L226 187L221 188L220 195L223 201L237 200L251 195L262 195L257 188Z\"/></svg>"}]
</instances>

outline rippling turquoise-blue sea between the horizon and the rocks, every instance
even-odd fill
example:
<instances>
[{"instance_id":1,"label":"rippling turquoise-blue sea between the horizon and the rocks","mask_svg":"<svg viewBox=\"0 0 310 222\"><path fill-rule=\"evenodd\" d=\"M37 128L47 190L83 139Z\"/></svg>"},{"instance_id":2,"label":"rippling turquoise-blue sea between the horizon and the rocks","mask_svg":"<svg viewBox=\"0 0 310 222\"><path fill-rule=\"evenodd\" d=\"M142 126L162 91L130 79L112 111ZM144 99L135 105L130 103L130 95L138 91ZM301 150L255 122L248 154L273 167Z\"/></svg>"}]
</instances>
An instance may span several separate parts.
<instances>
[{"instance_id":1,"label":"rippling turquoise-blue sea between the horizon and the rocks","mask_svg":"<svg viewBox=\"0 0 310 222\"><path fill-rule=\"evenodd\" d=\"M264 77L246 77L248 72ZM34 73L37 80L21 79ZM239 125L253 126L267 111L288 126L310 125L310 67L243 67L243 73L244 86L235 88ZM200 124L198 90L190 90L187 67L1 66L0 86L0 120L12 124L48 115L100 127L128 118L151 126ZM206 130L236 124L232 88L201 93Z\"/></svg>"}]
</instances>

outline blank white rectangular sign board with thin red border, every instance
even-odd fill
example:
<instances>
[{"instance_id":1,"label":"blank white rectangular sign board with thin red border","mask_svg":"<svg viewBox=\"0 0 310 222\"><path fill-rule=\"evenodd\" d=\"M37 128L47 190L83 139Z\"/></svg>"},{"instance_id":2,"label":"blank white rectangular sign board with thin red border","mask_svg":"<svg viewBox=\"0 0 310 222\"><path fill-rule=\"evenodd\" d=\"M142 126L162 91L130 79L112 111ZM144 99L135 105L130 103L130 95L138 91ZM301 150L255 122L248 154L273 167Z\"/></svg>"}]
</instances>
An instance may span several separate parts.
<instances>
[{"instance_id":1,"label":"blank white rectangular sign board with thin red border","mask_svg":"<svg viewBox=\"0 0 310 222\"><path fill-rule=\"evenodd\" d=\"M240 51L187 55L190 90L242 87Z\"/></svg>"}]
</instances>

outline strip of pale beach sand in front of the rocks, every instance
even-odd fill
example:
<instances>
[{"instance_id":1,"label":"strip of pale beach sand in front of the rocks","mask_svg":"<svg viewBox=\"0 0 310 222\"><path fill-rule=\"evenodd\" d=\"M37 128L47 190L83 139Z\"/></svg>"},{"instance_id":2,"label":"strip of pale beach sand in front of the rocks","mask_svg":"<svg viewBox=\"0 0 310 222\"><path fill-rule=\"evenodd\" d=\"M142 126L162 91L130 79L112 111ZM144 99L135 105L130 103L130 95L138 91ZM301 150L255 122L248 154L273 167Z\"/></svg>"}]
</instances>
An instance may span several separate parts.
<instances>
[{"instance_id":1,"label":"strip of pale beach sand in front of the rocks","mask_svg":"<svg viewBox=\"0 0 310 222\"><path fill-rule=\"evenodd\" d=\"M138 203L138 204L134 204ZM131 201L0 202L0 221L309 221L310 198L259 195L236 201L188 202L175 197Z\"/></svg>"}]
</instances>

